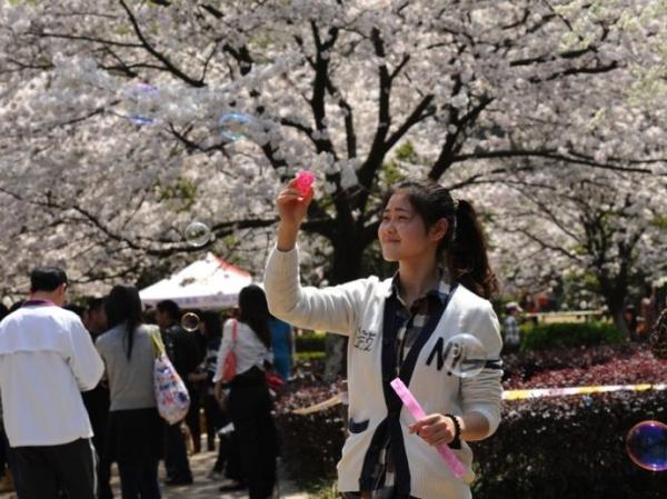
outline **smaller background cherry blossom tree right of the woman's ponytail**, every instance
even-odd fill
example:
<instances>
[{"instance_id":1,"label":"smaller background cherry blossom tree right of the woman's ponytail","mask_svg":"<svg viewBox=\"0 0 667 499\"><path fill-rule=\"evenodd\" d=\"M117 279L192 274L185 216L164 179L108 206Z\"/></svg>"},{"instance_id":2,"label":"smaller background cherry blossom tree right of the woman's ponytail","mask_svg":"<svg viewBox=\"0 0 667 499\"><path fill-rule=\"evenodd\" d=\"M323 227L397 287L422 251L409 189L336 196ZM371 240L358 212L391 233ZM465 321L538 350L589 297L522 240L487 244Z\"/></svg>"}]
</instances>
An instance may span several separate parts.
<instances>
[{"instance_id":1,"label":"smaller background cherry blossom tree right of the woman's ponytail","mask_svg":"<svg viewBox=\"0 0 667 499\"><path fill-rule=\"evenodd\" d=\"M496 229L512 239L511 253L499 255L510 286L591 276L627 333L630 285L667 272L667 178L551 170L506 183L508 201Z\"/></svg>"}]
</instances>

